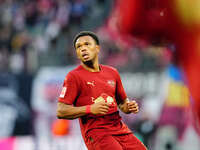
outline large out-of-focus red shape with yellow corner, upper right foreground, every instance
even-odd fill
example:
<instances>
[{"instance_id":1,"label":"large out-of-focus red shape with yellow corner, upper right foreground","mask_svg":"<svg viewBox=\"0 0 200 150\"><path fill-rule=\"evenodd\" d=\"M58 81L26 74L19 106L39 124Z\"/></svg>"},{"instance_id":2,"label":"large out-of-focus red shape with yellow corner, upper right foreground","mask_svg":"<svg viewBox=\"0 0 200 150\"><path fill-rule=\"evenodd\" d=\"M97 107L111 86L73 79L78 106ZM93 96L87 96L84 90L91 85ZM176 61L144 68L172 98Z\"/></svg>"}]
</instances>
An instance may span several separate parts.
<instances>
[{"instance_id":1,"label":"large out-of-focus red shape with yellow corner, upper right foreground","mask_svg":"<svg viewBox=\"0 0 200 150\"><path fill-rule=\"evenodd\" d=\"M118 0L116 4L119 33L149 41L164 37L176 46L176 61L185 72L200 128L200 1Z\"/></svg>"}]
</instances>

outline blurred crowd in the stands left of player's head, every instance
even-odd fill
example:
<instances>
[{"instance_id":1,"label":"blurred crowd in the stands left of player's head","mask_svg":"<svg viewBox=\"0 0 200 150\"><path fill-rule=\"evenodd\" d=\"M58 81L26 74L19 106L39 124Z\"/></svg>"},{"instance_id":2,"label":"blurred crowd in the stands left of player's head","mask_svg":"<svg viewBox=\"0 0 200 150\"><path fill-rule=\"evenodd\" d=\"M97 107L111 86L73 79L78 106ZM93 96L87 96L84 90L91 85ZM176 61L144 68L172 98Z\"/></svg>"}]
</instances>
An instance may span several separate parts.
<instances>
[{"instance_id":1,"label":"blurred crowd in the stands left of player's head","mask_svg":"<svg viewBox=\"0 0 200 150\"><path fill-rule=\"evenodd\" d=\"M43 65L75 63L71 50L74 34L100 25L111 3L105 0L2 0L0 70L35 73Z\"/></svg>"}]
</instances>

